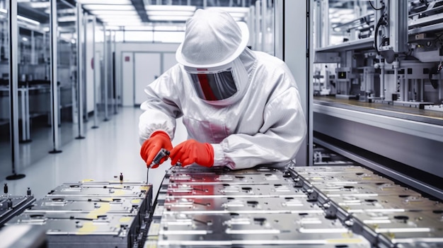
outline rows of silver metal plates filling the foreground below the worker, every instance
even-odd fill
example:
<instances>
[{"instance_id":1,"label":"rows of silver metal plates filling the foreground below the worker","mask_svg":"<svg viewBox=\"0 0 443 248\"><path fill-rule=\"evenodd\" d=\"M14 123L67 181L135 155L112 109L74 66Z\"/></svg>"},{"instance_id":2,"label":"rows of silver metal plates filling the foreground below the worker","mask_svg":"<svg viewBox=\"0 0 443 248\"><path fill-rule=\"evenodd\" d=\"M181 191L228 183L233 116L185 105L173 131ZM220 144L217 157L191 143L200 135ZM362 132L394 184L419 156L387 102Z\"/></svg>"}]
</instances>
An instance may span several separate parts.
<instances>
[{"instance_id":1,"label":"rows of silver metal plates filling the foreground below the worker","mask_svg":"<svg viewBox=\"0 0 443 248\"><path fill-rule=\"evenodd\" d=\"M6 226L48 247L443 246L442 203L357 165L171 167L150 199L144 182L66 183Z\"/></svg>"}]
</instances>

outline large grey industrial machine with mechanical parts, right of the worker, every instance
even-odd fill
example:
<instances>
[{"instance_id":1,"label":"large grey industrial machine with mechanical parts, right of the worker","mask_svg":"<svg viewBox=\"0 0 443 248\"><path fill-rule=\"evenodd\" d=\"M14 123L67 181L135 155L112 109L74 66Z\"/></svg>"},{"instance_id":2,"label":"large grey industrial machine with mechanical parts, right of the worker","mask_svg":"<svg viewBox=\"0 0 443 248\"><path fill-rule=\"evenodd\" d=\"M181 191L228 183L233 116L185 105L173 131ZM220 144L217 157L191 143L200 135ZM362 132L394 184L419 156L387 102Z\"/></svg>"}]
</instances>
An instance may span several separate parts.
<instances>
[{"instance_id":1,"label":"large grey industrial machine with mechanical parts, right of the worker","mask_svg":"<svg viewBox=\"0 0 443 248\"><path fill-rule=\"evenodd\" d=\"M314 4L314 142L441 197L443 1ZM315 87L314 87L315 88Z\"/></svg>"}]
</instances>

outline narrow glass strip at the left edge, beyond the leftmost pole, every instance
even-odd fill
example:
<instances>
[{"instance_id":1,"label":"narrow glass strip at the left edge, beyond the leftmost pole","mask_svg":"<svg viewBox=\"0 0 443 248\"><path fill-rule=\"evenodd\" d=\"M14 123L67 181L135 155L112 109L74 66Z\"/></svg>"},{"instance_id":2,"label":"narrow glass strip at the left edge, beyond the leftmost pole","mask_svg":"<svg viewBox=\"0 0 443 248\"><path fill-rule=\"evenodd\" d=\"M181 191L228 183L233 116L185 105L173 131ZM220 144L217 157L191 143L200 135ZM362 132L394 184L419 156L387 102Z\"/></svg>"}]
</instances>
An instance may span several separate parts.
<instances>
[{"instance_id":1,"label":"narrow glass strip at the left edge, beyond the leftmost pole","mask_svg":"<svg viewBox=\"0 0 443 248\"><path fill-rule=\"evenodd\" d=\"M0 0L0 178L11 175L11 143L9 136L9 65L8 15L6 0Z\"/></svg>"}]
</instances>

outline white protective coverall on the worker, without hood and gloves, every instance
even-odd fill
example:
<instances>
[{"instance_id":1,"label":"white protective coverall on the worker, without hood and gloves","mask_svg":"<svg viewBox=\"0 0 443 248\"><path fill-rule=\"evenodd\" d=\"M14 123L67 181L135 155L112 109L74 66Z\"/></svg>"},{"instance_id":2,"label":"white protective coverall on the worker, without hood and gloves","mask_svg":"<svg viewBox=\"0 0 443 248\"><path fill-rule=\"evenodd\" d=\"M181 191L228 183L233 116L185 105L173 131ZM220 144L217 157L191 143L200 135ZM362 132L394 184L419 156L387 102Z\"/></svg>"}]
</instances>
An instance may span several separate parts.
<instances>
[{"instance_id":1,"label":"white protective coverall on the worker, without hood and gloves","mask_svg":"<svg viewBox=\"0 0 443 248\"><path fill-rule=\"evenodd\" d=\"M248 48L240 52L237 65L243 66L247 76L238 89L240 97L223 104L199 98L183 64L176 64L150 83L141 106L140 143L159 130L172 139L176 119L183 117L188 138L214 148L214 166L236 170L287 165L294 160L306 134L294 77L276 57Z\"/></svg>"}]
</instances>

